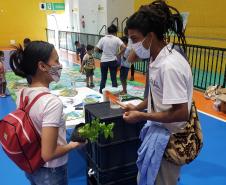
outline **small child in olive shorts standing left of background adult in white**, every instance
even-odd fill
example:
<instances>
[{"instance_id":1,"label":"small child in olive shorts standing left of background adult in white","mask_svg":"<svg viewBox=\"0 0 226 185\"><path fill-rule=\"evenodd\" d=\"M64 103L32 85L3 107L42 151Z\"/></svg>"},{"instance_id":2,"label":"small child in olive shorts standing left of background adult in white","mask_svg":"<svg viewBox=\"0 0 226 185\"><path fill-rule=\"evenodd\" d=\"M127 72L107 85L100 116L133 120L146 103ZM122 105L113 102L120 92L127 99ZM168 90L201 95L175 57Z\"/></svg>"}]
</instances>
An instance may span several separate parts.
<instances>
[{"instance_id":1,"label":"small child in olive shorts standing left of background adult in white","mask_svg":"<svg viewBox=\"0 0 226 185\"><path fill-rule=\"evenodd\" d=\"M95 69L95 60L93 58L94 46L87 45L86 51L87 53L85 54L81 65L81 72L84 71L86 74L86 86L92 88L94 87L93 75Z\"/></svg>"}]
</instances>

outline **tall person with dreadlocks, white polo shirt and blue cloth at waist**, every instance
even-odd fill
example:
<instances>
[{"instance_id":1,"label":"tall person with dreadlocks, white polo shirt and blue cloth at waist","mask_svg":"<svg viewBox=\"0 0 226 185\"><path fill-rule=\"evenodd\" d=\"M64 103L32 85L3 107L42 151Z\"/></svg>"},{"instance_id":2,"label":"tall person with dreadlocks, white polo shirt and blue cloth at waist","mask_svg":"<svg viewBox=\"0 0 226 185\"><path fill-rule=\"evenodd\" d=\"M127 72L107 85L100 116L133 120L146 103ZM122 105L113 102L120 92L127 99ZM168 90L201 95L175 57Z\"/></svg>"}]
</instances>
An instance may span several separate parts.
<instances>
[{"instance_id":1,"label":"tall person with dreadlocks, white polo shirt and blue cloth at waist","mask_svg":"<svg viewBox=\"0 0 226 185\"><path fill-rule=\"evenodd\" d=\"M180 13L163 0L141 6L127 21L132 48L140 58L149 57L149 95L139 105L128 104L123 118L128 123L147 120L138 150L138 185L176 185L180 167L164 158L170 135L185 127L192 104L193 79L186 57ZM170 33L174 34L168 43ZM148 109L147 113L142 112Z\"/></svg>"}]
</instances>

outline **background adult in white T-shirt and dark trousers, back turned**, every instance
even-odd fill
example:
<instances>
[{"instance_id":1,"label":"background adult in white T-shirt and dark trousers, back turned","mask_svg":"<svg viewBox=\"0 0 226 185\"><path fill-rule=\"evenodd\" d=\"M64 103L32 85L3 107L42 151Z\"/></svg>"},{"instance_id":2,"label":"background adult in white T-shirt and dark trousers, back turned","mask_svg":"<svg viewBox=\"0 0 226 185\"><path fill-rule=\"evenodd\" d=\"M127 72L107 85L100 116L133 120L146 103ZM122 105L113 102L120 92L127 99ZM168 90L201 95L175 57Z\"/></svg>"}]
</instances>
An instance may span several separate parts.
<instances>
[{"instance_id":1,"label":"background adult in white T-shirt and dark trousers, back turned","mask_svg":"<svg viewBox=\"0 0 226 185\"><path fill-rule=\"evenodd\" d=\"M118 87L116 75L117 75L117 57L125 51L126 46L121 39L116 37L118 28L115 25L108 27L108 34L102 37L95 47L96 52L102 52L101 56L101 82L99 92L102 93L102 89L105 88L108 69L110 70L112 87Z\"/></svg>"}]
</instances>

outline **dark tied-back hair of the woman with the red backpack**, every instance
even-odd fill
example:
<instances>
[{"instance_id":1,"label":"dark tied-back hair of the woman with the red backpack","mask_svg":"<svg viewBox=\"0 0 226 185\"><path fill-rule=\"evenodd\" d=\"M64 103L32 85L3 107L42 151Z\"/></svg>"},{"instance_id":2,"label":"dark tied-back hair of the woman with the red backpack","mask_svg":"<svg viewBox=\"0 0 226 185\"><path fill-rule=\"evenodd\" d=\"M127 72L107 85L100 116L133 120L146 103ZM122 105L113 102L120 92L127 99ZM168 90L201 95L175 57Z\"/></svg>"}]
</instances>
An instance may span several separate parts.
<instances>
[{"instance_id":1,"label":"dark tied-back hair of the woman with the red backpack","mask_svg":"<svg viewBox=\"0 0 226 185\"><path fill-rule=\"evenodd\" d=\"M10 67L16 75L27 78L34 76L38 68L38 62L47 63L54 46L44 41L32 41L23 50L19 45L10 56Z\"/></svg>"}]
</instances>

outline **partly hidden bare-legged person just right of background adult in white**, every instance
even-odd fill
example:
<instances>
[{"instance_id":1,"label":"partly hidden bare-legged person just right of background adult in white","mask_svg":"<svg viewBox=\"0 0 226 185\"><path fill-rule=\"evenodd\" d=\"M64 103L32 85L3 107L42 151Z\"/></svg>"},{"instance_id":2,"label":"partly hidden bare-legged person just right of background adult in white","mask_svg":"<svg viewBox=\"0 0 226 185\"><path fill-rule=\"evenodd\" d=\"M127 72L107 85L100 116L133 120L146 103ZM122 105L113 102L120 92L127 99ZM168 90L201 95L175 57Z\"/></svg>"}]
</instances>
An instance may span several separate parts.
<instances>
[{"instance_id":1,"label":"partly hidden bare-legged person just right of background adult in white","mask_svg":"<svg viewBox=\"0 0 226 185\"><path fill-rule=\"evenodd\" d=\"M126 50L121 56L121 68L120 68L120 80L122 83L121 94L124 95L124 94L127 94L127 77L128 77L128 73L129 73L131 64L127 60L128 56L129 56L129 52L130 52L130 48L127 46L128 38L122 37L121 40L126 45Z\"/></svg>"}]
</instances>

